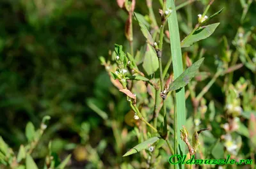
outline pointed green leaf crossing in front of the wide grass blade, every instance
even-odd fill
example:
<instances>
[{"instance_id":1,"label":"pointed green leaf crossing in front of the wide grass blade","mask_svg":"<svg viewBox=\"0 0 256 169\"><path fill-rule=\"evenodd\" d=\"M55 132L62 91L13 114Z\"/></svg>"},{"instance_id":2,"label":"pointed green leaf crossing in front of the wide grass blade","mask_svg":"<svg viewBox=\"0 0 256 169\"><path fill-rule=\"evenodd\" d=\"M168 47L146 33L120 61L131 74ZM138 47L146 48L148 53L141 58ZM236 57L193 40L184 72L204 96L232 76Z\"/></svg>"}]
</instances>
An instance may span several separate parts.
<instances>
[{"instance_id":1,"label":"pointed green leaf crossing in front of the wide grass blade","mask_svg":"<svg viewBox=\"0 0 256 169\"><path fill-rule=\"evenodd\" d=\"M203 61L204 57L202 59L199 59L188 69L186 69L178 78L176 78L172 82L172 84L170 84L168 91L175 91L187 85L190 80L195 76L196 71L199 69Z\"/></svg>"}]
</instances>

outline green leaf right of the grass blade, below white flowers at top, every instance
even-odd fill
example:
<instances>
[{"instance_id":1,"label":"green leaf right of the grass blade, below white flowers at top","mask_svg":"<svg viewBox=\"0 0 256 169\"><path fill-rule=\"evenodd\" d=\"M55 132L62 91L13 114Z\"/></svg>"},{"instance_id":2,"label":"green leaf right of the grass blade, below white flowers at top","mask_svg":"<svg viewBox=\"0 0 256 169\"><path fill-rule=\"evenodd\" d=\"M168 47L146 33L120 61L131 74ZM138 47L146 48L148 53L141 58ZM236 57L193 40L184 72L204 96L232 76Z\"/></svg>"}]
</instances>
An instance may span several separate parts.
<instances>
[{"instance_id":1,"label":"green leaf right of the grass blade, below white flowers at top","mask_svg":"<svg viewBox=\"0 0 256 169\"><path fill-rule=\"evenodd\" d=\"M220 23L211 24L208 26L199 27L195 33L191 34L191 36L187 36L184 40L181 42L181 47L190 47L196 41L204 40L205 38L208 38L211 36L212 33L214 33L215 29L219 26Z\"/></svg>"}]
</instances>

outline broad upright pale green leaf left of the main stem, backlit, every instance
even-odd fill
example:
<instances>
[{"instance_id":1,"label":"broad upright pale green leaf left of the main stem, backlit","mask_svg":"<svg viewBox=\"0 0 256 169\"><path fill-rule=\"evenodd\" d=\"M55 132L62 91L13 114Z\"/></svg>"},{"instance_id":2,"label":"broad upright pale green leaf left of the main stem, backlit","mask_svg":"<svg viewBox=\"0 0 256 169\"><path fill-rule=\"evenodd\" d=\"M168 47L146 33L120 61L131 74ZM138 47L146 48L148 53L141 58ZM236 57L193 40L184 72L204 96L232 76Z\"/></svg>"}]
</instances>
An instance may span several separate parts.
<instances>
[{"instance_id":1,"label":"broad upright pale green leaf left of the main stem, backlit","mask_svg":"<svg viewBox=\"0 0 256 169\"><path fill-rule=\"evenodd\" d=\"M147 75L152 75L159 68L156 51L151 45L147 45L147 51L142 66Z\"/></svg>"}]
</instances>

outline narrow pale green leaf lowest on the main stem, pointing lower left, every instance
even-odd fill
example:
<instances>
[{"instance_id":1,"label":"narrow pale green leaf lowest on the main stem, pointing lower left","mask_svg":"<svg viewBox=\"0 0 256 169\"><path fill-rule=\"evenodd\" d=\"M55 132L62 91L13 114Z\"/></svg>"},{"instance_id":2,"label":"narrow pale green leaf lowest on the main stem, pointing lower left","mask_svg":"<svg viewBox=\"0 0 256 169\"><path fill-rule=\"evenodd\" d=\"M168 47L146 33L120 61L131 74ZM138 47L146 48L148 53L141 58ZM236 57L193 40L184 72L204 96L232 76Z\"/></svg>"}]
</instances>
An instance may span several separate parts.
<instances>
[{"instance_id":1,"label":"narrow pale green leaf lowest on the main stem, pointing lower left","mask_svg":"<svg viewBox=\"0 0 256 169\"><path fill-rule=\"evenodd\" d=\"M131 150L129 150L128 152L126 152L123 157L129 156L129 155L134 154L134 153L136 153L136 152L140 152L140 151L142 151L142 150L144 150L144 149L148 149L153 143L157 142L158 140L159 140L159 138L158 138L157 136L154 136L154 137L152 137L152 138L149 138L149 139L146 140L145 142L136 145L136 146L133 147Z\"/></svg>"}]
</instances>

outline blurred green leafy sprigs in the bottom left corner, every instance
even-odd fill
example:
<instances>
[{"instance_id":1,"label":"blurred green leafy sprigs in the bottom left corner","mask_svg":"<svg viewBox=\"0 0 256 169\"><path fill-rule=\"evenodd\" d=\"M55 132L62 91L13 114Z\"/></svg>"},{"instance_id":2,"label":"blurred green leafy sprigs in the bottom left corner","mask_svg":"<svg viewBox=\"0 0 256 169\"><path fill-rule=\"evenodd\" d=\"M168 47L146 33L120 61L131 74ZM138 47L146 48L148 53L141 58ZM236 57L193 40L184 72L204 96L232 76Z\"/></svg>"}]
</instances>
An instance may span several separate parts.
<instances>
[{"instance_id":1,"label":"blurred green leafy sprigs in the bottom left corner","mask_svg":"<svg viewBox=\"0 0 256 169\"><path fill-rule=\"evenodd\" d=\"M13 150L4 142L3 138L0 137L0 164L7 166L8 168L13 169L38 169L38 166L35 163L35 160L32 158L31 153L34 151L35 147L38 145L38 142L42 139L42 134L47 128L47 122L51 119L49 116L45 116L42 119L40 129L35 131L35 127L32 122L28 122L26 126L26 136L28 138L27 145L20 145L19 152L17 156L13 153ZM58 164L58 158L54 159L51 154L51 143L49 143L49 156L46 156L44 168L56 168L64 169L67 166L68 161L70 161L71 155L69 155L65 160L63 160L60 165Z\"/></svg>"}]
</instances>

